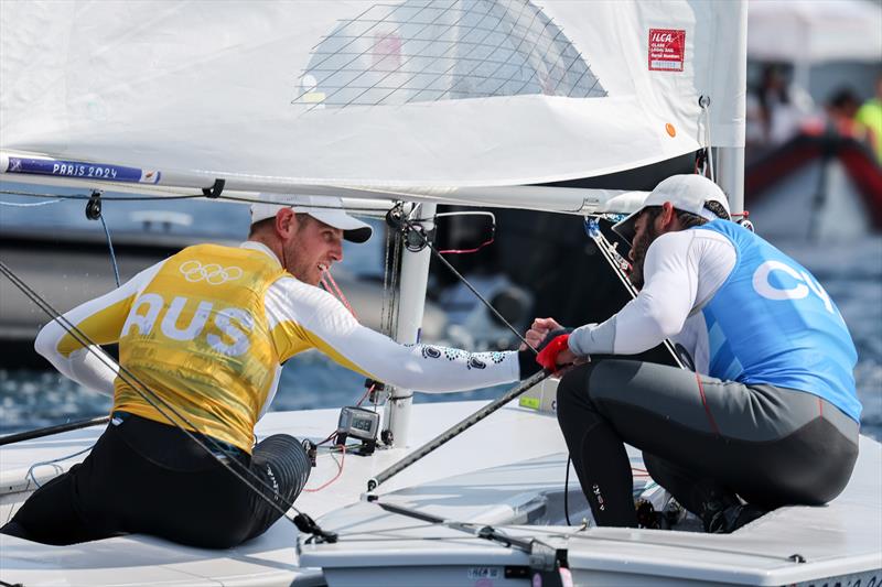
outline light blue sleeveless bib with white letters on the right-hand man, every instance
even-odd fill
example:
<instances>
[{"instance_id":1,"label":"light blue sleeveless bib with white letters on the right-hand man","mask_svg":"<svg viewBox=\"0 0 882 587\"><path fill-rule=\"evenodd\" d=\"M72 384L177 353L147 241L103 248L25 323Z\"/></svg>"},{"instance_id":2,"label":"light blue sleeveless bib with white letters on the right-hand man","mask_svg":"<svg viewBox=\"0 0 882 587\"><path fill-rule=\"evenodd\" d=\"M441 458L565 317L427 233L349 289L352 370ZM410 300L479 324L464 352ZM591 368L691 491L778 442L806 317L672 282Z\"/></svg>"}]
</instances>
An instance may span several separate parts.
<instances>
[{"instance_id":1,"label":"light blue sleeveless bib with white letters on the right-hand man","mask_svg":"<svg viewBox=\"0 0 882 587\"><path fill-rule=\"evenodd\" d=\"M799 263L728 220L712 230L735 247L732 273L702 313L711 377L813 393L860 422L858 360L846 323L820 283Z\"/></svg>"}]
</instances>

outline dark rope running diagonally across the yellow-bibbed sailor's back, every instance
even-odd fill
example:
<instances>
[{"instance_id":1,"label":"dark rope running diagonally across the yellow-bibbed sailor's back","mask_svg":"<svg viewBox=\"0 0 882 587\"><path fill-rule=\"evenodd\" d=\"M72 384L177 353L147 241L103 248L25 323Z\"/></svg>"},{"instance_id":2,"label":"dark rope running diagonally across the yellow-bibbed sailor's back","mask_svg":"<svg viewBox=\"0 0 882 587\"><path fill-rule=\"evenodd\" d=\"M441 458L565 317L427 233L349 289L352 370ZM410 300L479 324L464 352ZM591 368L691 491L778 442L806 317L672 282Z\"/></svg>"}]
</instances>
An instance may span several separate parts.
<instances>
[{"instance_id":1,"label":"dark rope running diagonally across the yellow-bibbed sailor's back","mask_svg":"<svg viewBox=\"0 0 882 587\"><path fill-rule=\"evenodd\" d=\"M212 438L211 436L204 436L208 444L213 445L214 449L208 446L208 444L204 443L200 437L193 434L190 430L184 427L181 423L183 422L187 426L193 430L197 430L183 414L181 414L173 405L166 402L163 398L158 395L154 391L149 389L137 376L135 376L129 369L122 367L119 363L116 363L107 357L105 354L99 352L97 350L98 345L94 343L88 335L86 335L79 327L73 323L71 323L64 315L58 313L49 302L46 302L40 294L37 294L34 290L32 290L24 281L22 281L3 261L0 261L0 273L7 276L13 285L15 285L22 293L24 293L34 304L40 307L43 312L50 315L55 322L57 322L68 335L71 335L77 343L83 345L88 352L95 355L98 360L104 363L108 368L116 368L118 369L117 377L121 379L125 383L129 384L136 393L138 393L142 400L149 403L157 412L159 412L165 420L168 420L172 425L176 426L181 432L183 432L191 441L193 441L196 445L198 445L206 453L211 454L215 457L217 463L226 468L234 477L239 479L243 483L245 483L251 491L257 493L257 496L269 503L269 506L275 509L276 511L281 513L281 517L288 520L289 522L293 523L300 531L311 533L315 536L322 537L327 540L329 542L336 541L336 535L332 533L324 532L318 524L305 513L301 512L293 503L284 503L288 506L288 509L294 510L298 515L295 518L289 518L288 509L282 509L278 506L272 499L270 499L267 494L261 492L258 489L258 486L263 487L266 490L270 492L276 492L272 487L268 483L263 482L262 479L257 477L250 469L245 467L240 464L237 459L232 458L230 455L217 441ZM159 405L162 404L162 406ZM179 421L175 421L169 413L166 413L163 409L174 414ZM224 455L228 458L220 458L216 453ZM232 464L236 464L236 467L241 469L243 472L236 470L236 467L232 466ZM257 486L252 485L252 482L246 478L246 476L250 476Z\"/></svg>"}]
</instances>

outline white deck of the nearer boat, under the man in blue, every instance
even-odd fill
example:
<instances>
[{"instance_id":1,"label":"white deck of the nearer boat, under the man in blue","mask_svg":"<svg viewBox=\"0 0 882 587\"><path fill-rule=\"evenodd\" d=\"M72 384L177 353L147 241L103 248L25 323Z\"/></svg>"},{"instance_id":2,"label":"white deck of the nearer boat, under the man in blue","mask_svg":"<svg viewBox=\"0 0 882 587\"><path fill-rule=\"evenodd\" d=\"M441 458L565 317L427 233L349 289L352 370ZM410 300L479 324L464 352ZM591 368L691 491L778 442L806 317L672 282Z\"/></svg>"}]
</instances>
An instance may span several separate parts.
<instances>
[{"instance_id":1,"label":"white deck of the nearer boat, under the man in blue","mask_svg":"<svg viewBox=\"0 0 882 587\"><path fill-rule=\"evenodd\" d=\"M849 486L828 506L782 508L728 535L612 528L576 532L547 525L497 529L546 536L542 540L556 547L566 547L578 585L658 585L665 578L671 585L790 585L873 572L882 569L882 446L861 437L860 450ZM564 455L541 457L380 499L455 521L496 526L506 521L525 524L530 518L542 523L545 515L555 523L553 504L544 504L540 493L562 490L564 463ZM573 509L571 504L571 520ZM375 503L337 510L322 524L340 532L340 542L304 544L301 561L323 567L332 587L465 585L469 568L528 564L521 552L387 513ZM790 559L795 554L805 563ZM882 573L876 577L878 584Z\"/></svg>"}]
</instances>

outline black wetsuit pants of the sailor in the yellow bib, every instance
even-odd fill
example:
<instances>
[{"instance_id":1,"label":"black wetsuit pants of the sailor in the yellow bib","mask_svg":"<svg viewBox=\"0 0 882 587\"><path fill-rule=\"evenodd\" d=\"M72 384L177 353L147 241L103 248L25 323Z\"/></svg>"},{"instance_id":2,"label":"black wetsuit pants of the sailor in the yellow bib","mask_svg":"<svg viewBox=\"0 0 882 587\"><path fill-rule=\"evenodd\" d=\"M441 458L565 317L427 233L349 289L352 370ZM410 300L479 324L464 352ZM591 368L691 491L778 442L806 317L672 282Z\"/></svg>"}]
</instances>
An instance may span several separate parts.
<instances>
[{"instance_id":1,"label":"black wetsuit pants of the sailor in the yellow bib","mask_svg":"<svg viewBox=\"0 0 882 587\"><path fill-rule=\"evenodd\" d=\"M125 414L82 464L37 489L0 532L57 545L141 532L225 548L269 529L310 474L305 449L284 434L263 439L252 455L234 447L218 453L232 454L223 458L278 508L180 430Z\"/></svg>"}]
</instances>

